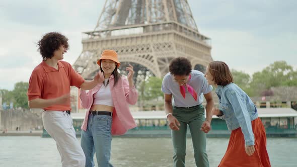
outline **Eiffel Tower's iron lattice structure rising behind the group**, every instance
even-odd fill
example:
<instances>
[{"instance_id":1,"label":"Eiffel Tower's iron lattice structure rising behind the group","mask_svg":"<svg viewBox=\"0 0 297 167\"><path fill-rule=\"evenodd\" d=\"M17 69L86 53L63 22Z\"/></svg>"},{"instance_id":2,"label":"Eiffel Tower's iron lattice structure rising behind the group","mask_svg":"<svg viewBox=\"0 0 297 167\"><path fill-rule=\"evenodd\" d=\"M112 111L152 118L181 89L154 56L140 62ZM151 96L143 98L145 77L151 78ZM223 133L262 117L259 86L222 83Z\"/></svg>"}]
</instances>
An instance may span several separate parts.
<instances>
[{"instance_id":1,"label":"Eiffel Tower's iron lattice structure rising behind the group","mask_svg":"<svg viewBox=\"0 0 297 167\"><path fill-rule=\"evenodd\" d=\"M210 38L199 33L187 0L106 0L94 31L84 35L73 68L86 79L99 70L105 49L118 53L121 73L133 65L136 86L146 77L163 77L175 57L187 57L202 72L212 61Z\"/></svg>"}]
</instances>

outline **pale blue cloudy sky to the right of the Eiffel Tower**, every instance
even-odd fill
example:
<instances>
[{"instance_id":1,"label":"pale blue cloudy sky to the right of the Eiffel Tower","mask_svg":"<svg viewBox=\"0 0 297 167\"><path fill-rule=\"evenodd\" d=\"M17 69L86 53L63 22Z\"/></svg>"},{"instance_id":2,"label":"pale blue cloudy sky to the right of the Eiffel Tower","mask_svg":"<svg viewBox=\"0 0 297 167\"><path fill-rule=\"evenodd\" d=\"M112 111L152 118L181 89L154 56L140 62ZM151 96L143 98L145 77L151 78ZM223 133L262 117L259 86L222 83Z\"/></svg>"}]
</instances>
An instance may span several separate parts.
<instances>
[{"instance_id":1,"label":"pale blue cloudy sky to the right of the Eiffel Tower","mask_svg":"<svg viewBox=\"0 0 297 167\"><path fill-rule=\"evenodd\" d=\"M291 66L297 48L296 1L189 1L214 60L252 74L274 61Z\"/></svg>"}]
</instances>

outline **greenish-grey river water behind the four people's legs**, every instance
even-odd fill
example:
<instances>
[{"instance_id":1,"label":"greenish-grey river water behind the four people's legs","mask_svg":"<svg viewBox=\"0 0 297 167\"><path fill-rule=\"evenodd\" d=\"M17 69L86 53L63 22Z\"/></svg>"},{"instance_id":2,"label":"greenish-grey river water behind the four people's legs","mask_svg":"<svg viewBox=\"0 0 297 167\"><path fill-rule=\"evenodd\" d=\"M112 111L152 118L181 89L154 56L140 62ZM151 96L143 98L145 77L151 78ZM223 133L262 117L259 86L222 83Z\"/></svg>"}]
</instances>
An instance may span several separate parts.
<instances>
[{"instance_id":1,"label":"greenish-grey river water behind the four people's legs","mask_svg":"<svg viewBox=\"0 0 297 167\"><path fill-rule=\"evenodd\" d=\"M80 138L78 140L80 141ZM206 148L211 167L218 165L227 149L228 141L229 138L207 138ZM52 138L0 136L0 150L1 167L61 166L59 152ZM267 138L267 150L272 166L297 166L297 138ZM115 167L173 166L172 154L171 138L114 137L111 163ZM187 139L186 166L195 166L190 138Z\"/></svg>"}]
</instances>

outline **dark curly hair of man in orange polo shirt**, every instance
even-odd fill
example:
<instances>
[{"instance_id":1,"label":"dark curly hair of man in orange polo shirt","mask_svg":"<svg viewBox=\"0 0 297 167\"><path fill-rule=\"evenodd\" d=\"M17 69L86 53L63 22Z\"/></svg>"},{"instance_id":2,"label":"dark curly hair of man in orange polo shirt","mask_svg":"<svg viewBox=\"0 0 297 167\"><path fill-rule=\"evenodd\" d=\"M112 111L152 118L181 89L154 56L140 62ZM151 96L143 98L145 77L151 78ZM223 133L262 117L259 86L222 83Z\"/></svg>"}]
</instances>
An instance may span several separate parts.
<instances>
[{"instance_id":1,"label":"dark curly hair of man in orange polo shirt","mask_svg":"<svg viewBox=\"0 0 297 167\"><path fill-rule=\"evenodd\" d=\"M50 32L45 34L38 42L38 51L40 52L42 59L47 60L53 57L53 53L55 50L59 49L61 45L68 50L68 39L58 33L58 32Z\"/></svg>"}]
</instances>

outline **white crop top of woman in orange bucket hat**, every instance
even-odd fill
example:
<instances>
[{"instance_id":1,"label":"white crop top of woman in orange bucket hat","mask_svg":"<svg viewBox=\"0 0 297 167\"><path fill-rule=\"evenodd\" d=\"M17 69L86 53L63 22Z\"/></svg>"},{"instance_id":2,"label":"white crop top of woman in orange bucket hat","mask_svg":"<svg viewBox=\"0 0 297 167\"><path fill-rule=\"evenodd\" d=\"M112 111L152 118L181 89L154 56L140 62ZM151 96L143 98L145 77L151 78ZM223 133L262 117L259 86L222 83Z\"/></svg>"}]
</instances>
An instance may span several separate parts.
<instances>
[{"instance_id":1,"label":"white crop top of woman in orange bucket hat","mask_svg":"<svg viewBox=\"0 0 297 167\"><path fill-rule=\"evenodd\" d=\"M108 78L104 80L105 85L108 81ZM100 90L94 94L94 105L107 105L114 107L111 92L110 92L110 85L108 84L106 87L102 84Z\"/></svg>"}]
</instances>

